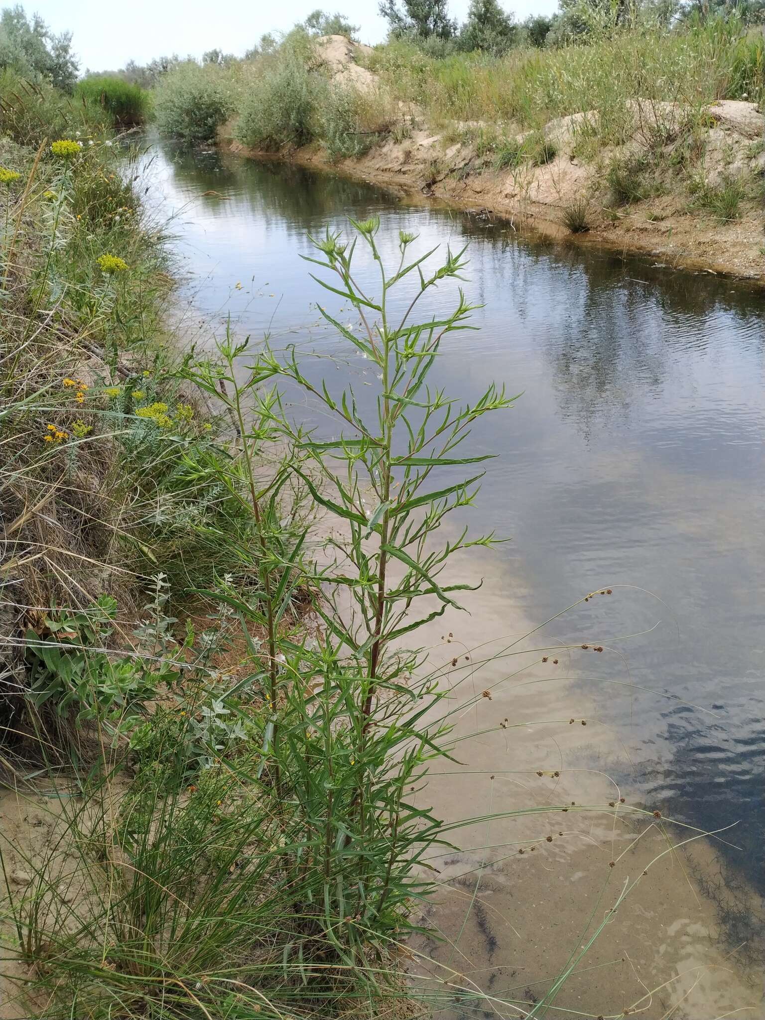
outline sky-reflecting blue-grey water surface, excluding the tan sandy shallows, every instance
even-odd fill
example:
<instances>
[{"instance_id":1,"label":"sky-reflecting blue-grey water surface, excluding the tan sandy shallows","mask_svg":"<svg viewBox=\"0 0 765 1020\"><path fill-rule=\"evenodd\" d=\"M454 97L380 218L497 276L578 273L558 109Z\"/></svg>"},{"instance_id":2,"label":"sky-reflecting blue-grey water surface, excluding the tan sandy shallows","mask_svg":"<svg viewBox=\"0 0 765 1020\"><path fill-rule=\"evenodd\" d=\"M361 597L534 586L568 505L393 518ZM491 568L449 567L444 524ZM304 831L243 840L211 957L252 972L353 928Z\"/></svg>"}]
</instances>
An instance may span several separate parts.
<instances>
[{"instance_id":1,"label":"sky-reflecting blue-grey water surface, excluding the tan sandy shallows","mask_svg":"<svg viewBox=\"0 0 765 1020\"><path fill-rule=\"evenodd\" d=\"M471 452L502 455L470 522L512 537L496 553L508 612L522 600L542 620L604 583L661 597L666 606L636 590L596 600L559 636L583 627L606 644L662 621L614 642L628 652L629 677L614 657L599 657L594 672L671 692L719 718L612 685L601 688L601 717L619 727L654 800L708 828L741 819L734 842L748 853L736 860L765 889L762 294L517 241L507 224L398 205L377 189L299 169L178 155L171 164L159 156L154 173L163 213L183 209L174 230L193 306L221 325L231 313L255 339L270 329L275 346L342 355L362 407L372 406L375 380L319 325L316 301L344 323L353 316L308 276L315 267L298 257L310 251L306 232L375 212L390 257L400 228L419 232L422 246L470 241L464 286L486 303L474 315L480 332L450 340L435 376L465 399L489 379L524 392L471 440ZM226 198L200 197L207 190ZM359 250L358 278L371 292L376 271ZM439 291L425 311L443 311L453 296ZM305 364L335 388L348 378L326 360Z\"/></svg>"}]
</instances>

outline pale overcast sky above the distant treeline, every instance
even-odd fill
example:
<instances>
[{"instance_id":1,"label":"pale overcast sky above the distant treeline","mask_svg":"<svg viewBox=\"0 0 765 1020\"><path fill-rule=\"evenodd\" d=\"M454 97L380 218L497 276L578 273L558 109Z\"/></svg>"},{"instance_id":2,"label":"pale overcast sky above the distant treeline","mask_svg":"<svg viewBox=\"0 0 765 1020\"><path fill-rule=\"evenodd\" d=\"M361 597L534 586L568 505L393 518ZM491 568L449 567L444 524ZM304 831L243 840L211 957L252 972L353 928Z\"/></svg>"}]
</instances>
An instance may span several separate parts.
<instances>
[{"instance_id":1,"label":"pale overcast sky above the distant treeline","mask_svg":"<svg viewBox=\"0 0 765 1020\"><path fill-rule=\"evenodd\" d=\"M12 0L0 0L2 6ZM218 47L241 56L265 32L287 31L316 7L340 10L360 24L362 42L378 43L386 22L377 13L378 0L21 0L28 14L37 11L55 32L72 33L72 48L81 67L114 69L128 60L145 63L167 53L201 56ZM453 17L464 19L469 0L450 0ZM511 6L508 3L508 6ZM557 0L516 0L516 17L552 13Z\"/></svg>"}]
</instances>

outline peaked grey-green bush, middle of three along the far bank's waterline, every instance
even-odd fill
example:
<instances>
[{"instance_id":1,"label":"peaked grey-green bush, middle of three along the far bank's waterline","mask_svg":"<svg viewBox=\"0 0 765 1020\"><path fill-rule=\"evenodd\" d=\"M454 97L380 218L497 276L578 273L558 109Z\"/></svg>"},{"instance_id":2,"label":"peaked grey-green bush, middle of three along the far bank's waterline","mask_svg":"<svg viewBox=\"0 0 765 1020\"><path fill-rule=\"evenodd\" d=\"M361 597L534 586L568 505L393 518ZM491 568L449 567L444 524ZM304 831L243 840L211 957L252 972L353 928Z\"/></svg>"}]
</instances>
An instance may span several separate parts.
<instances>
[{"instance_id":1,"label":"peaked grey-green bush, middle of three along the far bank's waterline","mask_svg":"<svg viewBox=\"0 0 765 1020\"><path fill-rule=\"evenodd\" d=\"M236 137L244 145L280 149L307 145L318 133L318 109L329 100L324 79L288 52L268 67L248 93ZM349 123L350 109L335 101L336 142Z\"/></svg>"}]
</instances>

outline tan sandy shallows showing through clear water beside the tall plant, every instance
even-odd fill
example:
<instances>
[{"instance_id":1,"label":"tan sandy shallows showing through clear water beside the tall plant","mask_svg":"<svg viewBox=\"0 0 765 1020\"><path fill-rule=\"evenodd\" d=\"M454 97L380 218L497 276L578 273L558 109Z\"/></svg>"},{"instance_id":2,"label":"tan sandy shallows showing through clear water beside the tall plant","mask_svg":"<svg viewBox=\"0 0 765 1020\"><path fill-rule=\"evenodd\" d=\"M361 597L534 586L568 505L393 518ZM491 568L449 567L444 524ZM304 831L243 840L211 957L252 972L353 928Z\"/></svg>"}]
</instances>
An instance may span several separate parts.
<instances>
[{"instance_id":1,"label":"tan sandy shallows showing through clear water beside the tall plant","mask_svg":"<svg viewBox=\"0 0 765 1020\"><path fill-rule=\"evenodd\" d=\"M522 596L508 597L490 558L472 563L486 574L468 604L473 613L449 609L429 627L428 665L443 664L455 705L479 697L456 716L455 735L466 737L457 744L461 764L432 774L420 803L448 821L507 815L457 830L459 851L431 860L442 889L423 920L445 940L417 940L415 982L452 1000L443 1020L764 1017L762 946L735 945L721 923L727 889L716 839L735 844L735 830L699 837L654 817L660 806L643 804L636 783L610 778L629 776L632 763L619 734L599 721L613 688L586 678L593 656L608 676L608 649L594 652L591 636L586 649L557 650L563 621L522 639L537 625L515 608ZM474 666L519 638L511 657ZM539 651L516 654L522 649ZM611 663L623 681L623 661L611 653ZM532 813L511 815L525 809ZM714 900L705 895L710 884ZM735 910L762 916L753 890L744 899L740 886Z\"/></svg>"}]
</instances>

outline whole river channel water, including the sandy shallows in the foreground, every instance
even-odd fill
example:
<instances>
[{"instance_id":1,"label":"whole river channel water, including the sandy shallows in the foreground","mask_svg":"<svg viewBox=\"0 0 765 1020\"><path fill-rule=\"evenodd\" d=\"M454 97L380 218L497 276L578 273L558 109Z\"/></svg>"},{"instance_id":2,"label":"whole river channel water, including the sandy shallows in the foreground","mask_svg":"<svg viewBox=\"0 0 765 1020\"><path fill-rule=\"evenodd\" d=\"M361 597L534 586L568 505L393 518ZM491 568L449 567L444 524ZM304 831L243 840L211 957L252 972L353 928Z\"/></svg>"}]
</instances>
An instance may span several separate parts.
<instances>
[{"instance_id":1,"label":"whole river channel water, including the sandy shallows in the foreground","mask_svg":"<svg viewBox=\"0 0 765 1020\"><path fill-rule=\"evenodd\" d=\"M630 927L643 918L640 936L623 935L615 948L609 928L601 936L605 948L594 951L602 955L597 958L602 969L572 979L566 1008L556 1001L560 1009L551 1015L571 1010L595 1016L600 1009L618 1016L615 1010L638 1000L641 986L644 991L658 986L678 974L684 961L694 980L707 968L706 983L691 988L691 978L678 977L672 988L643 1003L641 1015L669 1016L666 1011L675 1008L673 1020L685 1015L712 1020L746 1006L749 1012L741 1015L765 1016L761 980L758 988L744 978L736 983L738 978L709 977L723 960L731 967L733 960L750 966L751 976L754 961L757 981L762 960L765 294L711 274L675 271L650 258L529 240L501 220L399 199L332 174L169 146L152 148L144 163L155 214L173 217L169 230L186 309L183 335L209 345L231 316L237 334L257 340L267 332L276 347L294 343L304 356L310 352L306 364L317 377L352 377L362 407L370 405L374 379L321 324L316 302L332 302L300 258L310 253L307 235L321 234L327 224L347 228L349 216L375 214L389 255L399 230L417 233L421 249L469 244L463 287L471 301L482 304L473 315L479 329L457 335L436 376L466 400L491 379L521 394L503 416L481 419L470 440L471 452L499 455L489 462L469 514L471 527L511 541L471 562L468 569L486 577L484 588L469 603L471 615L439 624L434 642L438 646L444 635L446 660L458 645L473 648L530 629L591 590L609 586L613 595L581 604L548 633L556 642L588 634L606 648L603 655L591 650L567 655L562 683L538 683L526 693L508 690L493 700L498 715L524 722L532 717L523 715L526 710L550 719L567 716L569 709L581 715L574 709L585 705L589 728L574 733L567 719L552 727L529 726L518 737L527 741L520 751L508 747L504 732L500 744L481 740L461 777L464 785L452 777L434 796L446 811L455 800L477 810L488 797L496 808L500 795L490 795L488 773L517 772L522 751L532 778L534 769L562 765L588 769L591 778L607 773L628 800L688 825L717 830L735 823L725 842L695 845L698 854L687 867L668 855L670 870L630 908ZM369 259L360 260L362 285L371 286L375 271ZM454 297L454 290L445 288L428 299L429 307L444 307ZM348 309L341 314L340 307L342 302L333 305L345 321ZM305 408L309 420L312 413ZM322 427L321 421L313 423ZM446 638L448 628L454 642ZM537 676L538 666L529 668ZM553 716L544 714L550 710ZM473 772L482 776L479 789ZM613 788L606 783L599 790L591 783L584 793L613 797ZM522 788L503 789L505 798L531 796L525 780ZM584 796L580 787L566 789L572 800L577 789ZM453 940L461 939L456 957L435 945L421 951L434 959L441 954L443 962L450 958L460 973L470 969L470 980L490 998L468 1007L457 997L450 1016L512 1017L528 1010L537 994L532 961L543 954L550 960L543 929L564 944L565 962L578 937L571 918L585 920L595 903L596 886L586 878L579 882L586 891L578 902L571 878L581 871L576 854L592 856L593 840L601 839L602 833L588 831L591 849L582 839L579 850L564 854L556 842L558 856L541 845L536 859L524 857L520 882L515 872L508 873L507 851L481 850L470 858L466 847L445 888L460 887L464 861L472 860L486 878L476 895L482 920L473 907L460 932L462 920L450 915L446 897L436 921ZM489 842L503 844L506 835L492 832ZM481 833L478 844L486 843ZM556 886L556 891L554 869L562 861L565 890ZM519 866L513 860L512 867ZM605 875L608 879L607 866ZM469 879L462 884L469 900L473 886ZM533 890L527 902L520 902L519 886ZM691 889L694 900L699 896L701 906L694 900L687 908L675 903L676 886ZM671 916L661 916L663 903L670 904ZM701 920L694 917L697 908ZM464 909L463 904L462 917ZM487 921L487 910L490 920L500 919L497 924ZM550 923L555 912L560 925ZM563 920L571 922L568 927ZM680 928L673 931L677 923ZM507 931L503 925L509 925ZM619 961L610 971L609 954ZM642 954L642 963L635 954ZM586 965L595 961L589 957ZM534 979L556 968L551 961ZM650 980L644 980L647 973ZM499 997L501 987L516 986L518 1002L525 1004L520 1012L505 998L502 1006L501 997L491 998ZM694 999L700 988L704 993ZM613 1001L619 996L621 1005Z\"/></svg>"}]
</instances>

